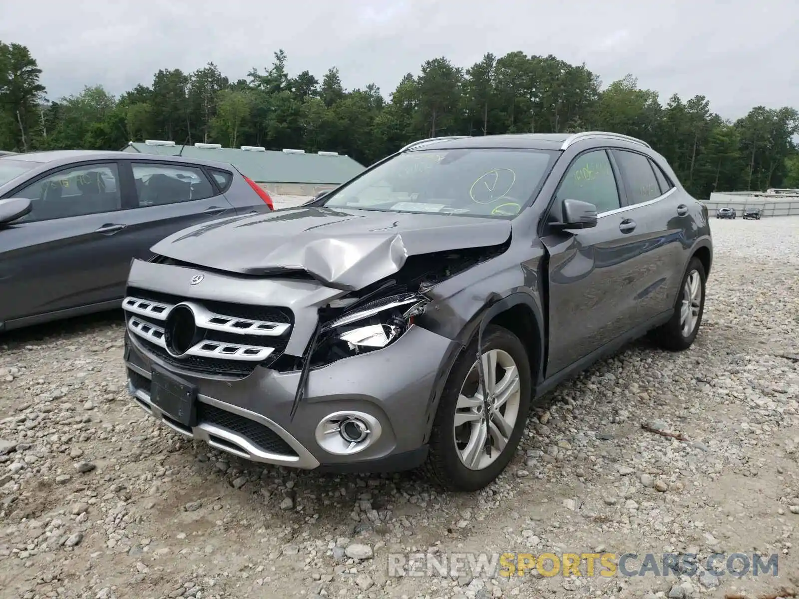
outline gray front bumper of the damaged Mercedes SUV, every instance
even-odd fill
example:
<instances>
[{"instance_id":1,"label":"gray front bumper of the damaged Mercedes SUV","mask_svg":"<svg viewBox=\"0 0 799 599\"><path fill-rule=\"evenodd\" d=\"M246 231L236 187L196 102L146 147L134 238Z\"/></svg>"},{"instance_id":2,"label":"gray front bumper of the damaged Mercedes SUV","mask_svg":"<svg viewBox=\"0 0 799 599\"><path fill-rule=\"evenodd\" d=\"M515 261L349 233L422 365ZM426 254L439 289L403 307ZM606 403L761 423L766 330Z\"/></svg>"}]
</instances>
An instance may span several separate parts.
<instances>
[{"instance_id":1,"label":"gray front bumper of the damaged Mercedes SUV","mask_svg":"<svg viewBox=\"0 0 799 599\"><path fill-rule=\"evenodd\" d=\"M128 333L126 345L129 393L166 426L254 462L333 471L407 470L423 462L434 399L459 347L411 326L388 347L310 371L304 399L292 418L298 371L256 367L236 380L197 375L163 363L136 335ZM150 402L153 363L197 385L197 426L181 425ZM379 422L379 437L355 454L326 450L317 426L342 412Z\"/></svg>"}]
</instances>

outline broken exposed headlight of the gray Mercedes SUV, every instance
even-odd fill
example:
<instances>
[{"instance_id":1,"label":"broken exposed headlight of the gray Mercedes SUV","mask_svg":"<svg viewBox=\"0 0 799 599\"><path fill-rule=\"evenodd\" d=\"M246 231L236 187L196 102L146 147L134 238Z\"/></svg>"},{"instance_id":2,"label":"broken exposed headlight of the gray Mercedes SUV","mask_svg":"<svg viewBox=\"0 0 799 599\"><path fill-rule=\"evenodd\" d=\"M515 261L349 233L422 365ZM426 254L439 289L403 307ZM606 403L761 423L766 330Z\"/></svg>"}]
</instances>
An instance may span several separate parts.
<instances>
[{"instance_id":1,"label":"broken exposed headlight of the gray Mercedes SUV","mask_svg":"<svg viewBox=\"0 0 799 599\"><path fill-rule=\"evenodd\" d=\"M386 297L344 312L320 327L312 363L329 364L394 343L423 311L427 300L415 293Z\"/></svg>"}]
</instances>

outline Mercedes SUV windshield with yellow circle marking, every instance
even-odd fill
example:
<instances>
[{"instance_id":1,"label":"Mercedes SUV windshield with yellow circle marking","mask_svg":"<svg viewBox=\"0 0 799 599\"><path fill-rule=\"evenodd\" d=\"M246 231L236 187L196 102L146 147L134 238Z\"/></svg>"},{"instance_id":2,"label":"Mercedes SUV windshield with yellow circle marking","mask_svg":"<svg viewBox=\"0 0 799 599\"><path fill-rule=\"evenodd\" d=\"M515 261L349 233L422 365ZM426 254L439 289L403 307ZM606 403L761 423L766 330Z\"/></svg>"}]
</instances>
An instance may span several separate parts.
<instances>
[{"instance_id":1,"label":"Mercedes SUV windshield with yellow circle marking","mask_svg":"<svg viewBox=\"0 0 799 599\"><path fill-rule=\"evenodd\" d=\"M530 149L407 152L331 192L324 205L510 219L538 192L556 157Z\"/></svg>"}]
</instances>

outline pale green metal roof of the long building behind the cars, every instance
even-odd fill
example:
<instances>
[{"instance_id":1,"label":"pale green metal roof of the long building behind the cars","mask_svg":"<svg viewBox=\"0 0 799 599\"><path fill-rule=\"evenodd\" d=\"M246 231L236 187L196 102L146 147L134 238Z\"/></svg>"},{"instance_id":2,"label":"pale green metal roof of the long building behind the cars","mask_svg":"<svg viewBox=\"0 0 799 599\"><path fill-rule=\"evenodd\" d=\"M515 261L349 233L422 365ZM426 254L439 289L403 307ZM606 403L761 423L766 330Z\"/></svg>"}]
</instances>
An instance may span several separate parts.
<instances>
[{"instance_id":1,"label":"pale green metal roof of the long building behind the cars","mask_svg":"<svg viewBox=\"0 0 799 599\"><path fill-rule=\"evenodd\" d=\"M246 149L222 148L213 144L186 145L181 155L193 160L228 162L258 183L342 184L365 169L352 158L336 153L278 152L243 147ZM181 152L181 145L164 141L131 141L123 151L174 156Z\"/></svg>"}]
</instances>

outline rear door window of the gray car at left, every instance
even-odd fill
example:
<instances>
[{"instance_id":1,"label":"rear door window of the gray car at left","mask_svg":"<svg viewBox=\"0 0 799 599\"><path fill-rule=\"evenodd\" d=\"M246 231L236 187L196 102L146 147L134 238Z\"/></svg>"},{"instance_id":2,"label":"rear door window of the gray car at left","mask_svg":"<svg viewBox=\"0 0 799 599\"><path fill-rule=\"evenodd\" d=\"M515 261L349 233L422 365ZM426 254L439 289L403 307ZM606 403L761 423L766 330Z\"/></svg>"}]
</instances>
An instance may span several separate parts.
<instances>
[{"instance_id":1,"label":"rear door window of the gray car at left","mask_svg":"<svg viewBox=\"0 0 799 599\"><path fill-rule=\"evenodd\" d=\"M205 173L196 167L144 162L131 166L140 207L205 200L217 193Z\"/></svg>"}]
</instances>

